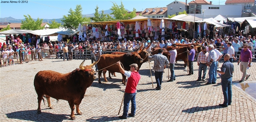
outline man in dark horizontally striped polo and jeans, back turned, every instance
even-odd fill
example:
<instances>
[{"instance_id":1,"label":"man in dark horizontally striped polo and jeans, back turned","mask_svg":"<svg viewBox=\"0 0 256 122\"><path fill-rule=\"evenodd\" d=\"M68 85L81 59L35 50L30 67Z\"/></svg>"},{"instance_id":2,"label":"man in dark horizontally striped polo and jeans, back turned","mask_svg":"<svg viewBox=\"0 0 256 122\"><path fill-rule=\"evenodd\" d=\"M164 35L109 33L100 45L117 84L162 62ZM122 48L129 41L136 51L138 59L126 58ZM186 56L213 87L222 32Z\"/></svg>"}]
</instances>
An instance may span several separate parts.
<instances>
[{"instance_id":1,"label":"man in dark horizontally striped polo and jeans, back turned","mask_svg":"<svg viewBox=\"0 0 256 122\"><path fill-rule=\"evenodd\" d=\"M217 72L221 74L221 87L224 95L223 104L219 104L221 107L228 107L232 102L232 76L234 72L234 65L229 61L230 55L224 56L224 63L221 66L221 71Z\"/></svg>"}]
</instances>

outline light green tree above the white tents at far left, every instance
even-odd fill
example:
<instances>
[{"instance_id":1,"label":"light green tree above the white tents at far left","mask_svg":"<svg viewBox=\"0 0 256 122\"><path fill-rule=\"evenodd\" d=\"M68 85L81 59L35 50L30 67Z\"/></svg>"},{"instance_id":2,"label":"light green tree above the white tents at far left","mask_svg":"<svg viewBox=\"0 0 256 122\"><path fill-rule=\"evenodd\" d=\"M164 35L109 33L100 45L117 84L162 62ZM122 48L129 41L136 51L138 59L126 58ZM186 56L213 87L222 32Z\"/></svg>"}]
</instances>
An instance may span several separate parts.
<instances>
[{"instance_id":1,"label":"light green tree above the white tents at far left","mask_svg":"<svg viewBox=\"0 0 256 122\"><path fill-rule=\"evenodd\" d=\"M43 19L37 18L35 21L33 18L31 18L30 15L26 16L24 15L26 20L21 20L21 26L20 29L25 30L41 30L44 29L44 27L41 27L41 24L43 23Z\"/></svg>"}]
</instances>

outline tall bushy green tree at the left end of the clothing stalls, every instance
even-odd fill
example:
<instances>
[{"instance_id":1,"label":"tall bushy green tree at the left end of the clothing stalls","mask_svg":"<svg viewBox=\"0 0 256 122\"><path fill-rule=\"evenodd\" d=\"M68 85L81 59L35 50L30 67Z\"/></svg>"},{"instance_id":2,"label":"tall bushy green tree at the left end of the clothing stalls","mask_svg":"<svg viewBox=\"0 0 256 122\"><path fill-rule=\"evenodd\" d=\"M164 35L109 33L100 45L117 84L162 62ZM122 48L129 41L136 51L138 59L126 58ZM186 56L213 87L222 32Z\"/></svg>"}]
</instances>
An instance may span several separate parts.
<instances>
[{"instance_id":1,"label":"tall bushy green tree at the left end of the clothing stalls","mask_svg":"<svg viewBox=\"0 0 256 122\"><path fill-rule=\"evenodd\" d=\"M68 11L68 15L63 15L63 19L61 19L62 22L64 22L63 27L69 28L69 29L77 29L79 26L79 23L82 22L90 22L90 18L83 17L82 15L82 6L76 5L75 11L73 11L71 8Z\"/></svg>"}]
</instances>

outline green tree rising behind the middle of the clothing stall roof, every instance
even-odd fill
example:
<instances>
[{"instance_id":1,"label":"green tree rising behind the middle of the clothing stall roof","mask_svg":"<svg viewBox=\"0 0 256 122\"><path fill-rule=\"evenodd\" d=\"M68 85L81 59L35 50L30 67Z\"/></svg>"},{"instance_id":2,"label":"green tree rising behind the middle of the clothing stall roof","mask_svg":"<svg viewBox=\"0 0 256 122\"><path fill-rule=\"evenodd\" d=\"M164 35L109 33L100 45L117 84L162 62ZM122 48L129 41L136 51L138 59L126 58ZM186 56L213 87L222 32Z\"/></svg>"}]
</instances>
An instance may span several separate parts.
<instances>
[{"instance_id":1,"label":"green tree rising behind the middle of the clothing stall roof","mask_svg":"<svg viewBox=\"0 0 256 122\"><path fill-rule=\"evenodd\" d=\"M128 19L129 17L132 19L136 16L136 9L133 8L131 13L128 13L124 8L124 4L121 1L121 5L117 5L116 2L112 2L113 6L110 8L112 11L110 14L114 15L116 20Z\"/></svg>"}]
</instances>

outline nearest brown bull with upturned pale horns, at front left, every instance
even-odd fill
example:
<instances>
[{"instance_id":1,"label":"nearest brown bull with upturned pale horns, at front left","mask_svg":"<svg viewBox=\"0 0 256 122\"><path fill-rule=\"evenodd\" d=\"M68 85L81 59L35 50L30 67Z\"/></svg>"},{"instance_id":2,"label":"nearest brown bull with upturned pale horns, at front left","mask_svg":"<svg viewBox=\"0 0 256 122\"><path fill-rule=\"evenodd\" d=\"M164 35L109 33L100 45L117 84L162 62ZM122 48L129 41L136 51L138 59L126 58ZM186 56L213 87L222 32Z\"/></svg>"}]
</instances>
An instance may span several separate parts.
<instances>
[{"instance_id":1,"label":"nearest brown bull with upturned pale horns, at front left","mask_svg":"<svg viewBox=\"0 0 256 122\"><path fill-rule=\"evenodd\" d=\"M57 100L67 100L71 108L70 118L75 120L75 105L76 113L82 115L79 110L79 105L84 98L85 91L92 85L92 82L97 78L97 73L94 72L92 66L99 62L100 58L91 65L83 66L84 61L79 66L80 69L75 69L73 72L62 74L54 71L39 71L34 79L34 86L38 95L37 113L41 113L41 101L43 96L46 96L48 107L52 109L50 97ZM44 101L44 99L43 99Z\"/></svg>"}]
</instances>

